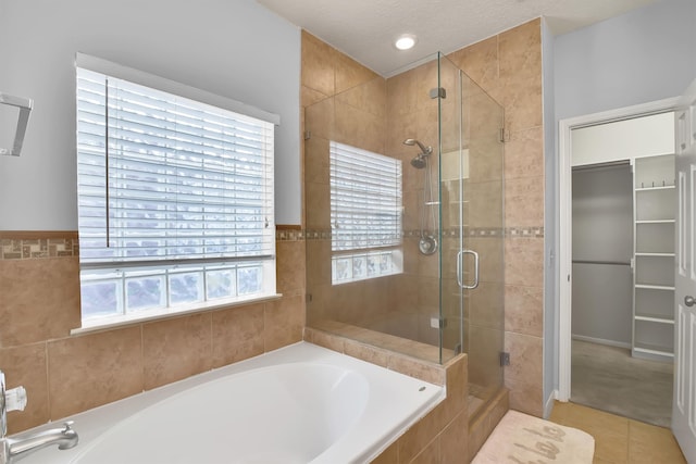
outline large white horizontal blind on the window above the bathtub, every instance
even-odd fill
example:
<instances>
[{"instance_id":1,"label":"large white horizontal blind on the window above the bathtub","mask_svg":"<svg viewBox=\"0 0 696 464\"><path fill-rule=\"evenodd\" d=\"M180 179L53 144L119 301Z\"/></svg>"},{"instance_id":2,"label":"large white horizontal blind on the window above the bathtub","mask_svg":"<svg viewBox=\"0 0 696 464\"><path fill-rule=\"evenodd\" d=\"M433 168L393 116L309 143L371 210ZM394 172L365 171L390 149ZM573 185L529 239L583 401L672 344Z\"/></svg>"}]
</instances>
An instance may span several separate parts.
<instances>
[{"instance_id":1,"label":"large white horizontal blind on the window above the bathtub","mask_svg":"<svg viewBox=\"0 0 696 464\"><path fill-rule=\"evenodd\" d=\"M274 254L273 125L78 68L80 263Z\"/></svg>"}]
</instances>

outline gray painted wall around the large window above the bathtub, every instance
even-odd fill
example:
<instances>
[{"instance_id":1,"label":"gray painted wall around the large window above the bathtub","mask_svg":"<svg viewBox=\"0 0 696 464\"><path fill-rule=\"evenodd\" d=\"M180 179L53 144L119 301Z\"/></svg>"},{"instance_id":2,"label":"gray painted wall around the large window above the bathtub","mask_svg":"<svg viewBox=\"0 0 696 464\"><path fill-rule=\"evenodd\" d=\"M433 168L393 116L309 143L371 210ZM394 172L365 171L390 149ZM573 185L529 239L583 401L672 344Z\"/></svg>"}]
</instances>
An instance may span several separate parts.
<instances>
[{"instance_id":1,"label":"gray painted wall around the large window above the bathtub","mask_svg":"<svg viewBox=\"0 0 696 464\"><path fill-rule=\"evenodd\" d=\"M77 229L77 51L279 114L276 222L300 224L296 26L253 0L0 0L0 91L35 100L22 156L0 156L0 230Z\"/></svg>"}]
</instances>

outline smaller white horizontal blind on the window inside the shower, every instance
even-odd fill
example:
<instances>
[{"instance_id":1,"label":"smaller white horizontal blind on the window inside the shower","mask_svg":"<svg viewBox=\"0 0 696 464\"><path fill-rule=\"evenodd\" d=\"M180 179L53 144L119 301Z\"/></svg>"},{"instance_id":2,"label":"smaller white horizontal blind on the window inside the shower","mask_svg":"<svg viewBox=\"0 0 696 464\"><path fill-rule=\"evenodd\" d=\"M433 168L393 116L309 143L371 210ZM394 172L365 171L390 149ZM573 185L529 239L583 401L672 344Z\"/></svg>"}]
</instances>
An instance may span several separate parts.
<instances>
[{"instance_id":1,"label":"smaller white horizontal blind on the window inside the shower","mask_svg":"<svg viewBox=\"0 0 696 464\"><path fill-rule=\"evenodd\" d=\"M332 250L401 243L401 161L332 141Z\"/></svg>"}]
</instances>

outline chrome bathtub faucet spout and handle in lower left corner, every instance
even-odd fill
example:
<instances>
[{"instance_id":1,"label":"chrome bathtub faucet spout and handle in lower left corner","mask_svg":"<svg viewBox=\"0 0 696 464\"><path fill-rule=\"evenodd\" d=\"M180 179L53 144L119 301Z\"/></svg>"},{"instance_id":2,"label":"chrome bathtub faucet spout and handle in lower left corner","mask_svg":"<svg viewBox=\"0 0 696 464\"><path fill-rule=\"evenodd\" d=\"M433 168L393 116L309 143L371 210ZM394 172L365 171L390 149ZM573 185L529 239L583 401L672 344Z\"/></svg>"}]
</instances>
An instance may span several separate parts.
<instances>
[{"instance_id":1,"label":"chrome bathtub faucet spout and handle in lower left corner","mask_svg":"<svg viewBox=\"0 0 696 464\"><path fill-rule=\"evenodd\" d=\"M24 438L8 438L8 411L24 411L26 391L24 387L12 390L4 388L4 374L0 371L0 464L11 464L34 451L51 444L59 450L67 450L77 446L77 432L71 428L72 421L64 423L63 428L39 431Z\"/></svg>"}]
</instances>

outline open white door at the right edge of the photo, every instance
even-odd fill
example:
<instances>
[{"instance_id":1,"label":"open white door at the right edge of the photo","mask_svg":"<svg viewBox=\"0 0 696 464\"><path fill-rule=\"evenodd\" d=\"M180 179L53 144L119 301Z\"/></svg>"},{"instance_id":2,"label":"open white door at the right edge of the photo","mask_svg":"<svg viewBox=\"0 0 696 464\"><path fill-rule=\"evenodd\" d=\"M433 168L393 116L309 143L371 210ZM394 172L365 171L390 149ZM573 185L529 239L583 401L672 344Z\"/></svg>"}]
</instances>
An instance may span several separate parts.
<instances>
[{"instance_id":1,"label":"open white door at the right edge of the photo","mask_svg":"<svg viewBox=\"0 0 696 464\"><path fill-rule=\"evenodd\" d=\"M672 431L696 464L696 80L675 113L676 268Z\"/></svg>"}]
</instances>

